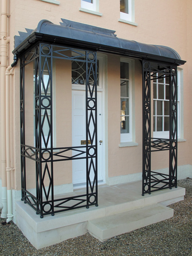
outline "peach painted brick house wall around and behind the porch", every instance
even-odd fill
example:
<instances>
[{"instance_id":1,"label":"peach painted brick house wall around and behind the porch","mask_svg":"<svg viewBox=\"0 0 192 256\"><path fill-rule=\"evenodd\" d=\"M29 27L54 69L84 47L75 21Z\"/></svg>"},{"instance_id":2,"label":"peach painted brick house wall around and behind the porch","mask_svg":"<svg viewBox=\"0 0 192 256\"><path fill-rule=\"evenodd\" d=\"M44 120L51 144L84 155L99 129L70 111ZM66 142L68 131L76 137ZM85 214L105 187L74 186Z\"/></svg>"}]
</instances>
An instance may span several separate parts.
<instances>
[{"instance_id":1,"label":"peach painted brick house wall around and behind the porch","mask_svg":"<svg viewBox=\"0 0 192 256\"><path fill-rule=\"evenodd\" d=\"M18 31L25 32L25 28L35 29L42 19L47 19L55 24L59 24L60 18L86 23L102 28L116 30L116 35L120 38L135 40L147 44L166 45L175 49L181 59L187 60L182 67L184 70L184 138L186 142L180 142L178 146L178 164L192 164L191 151L191 126L192 126L192 54L191 54L191 9L190 0L161 0L151 3L148 0L135 0L135 22L138 26L131 26L118 22L120 18L118 0L100 0L99 11L103 16L96 16L79 11L80 0L60 0L60 5L49 4L38 0L11 0L9 5L9 18L11 36L8 64L12 63L12 50L14 47L13 36L19 35ZM115 60L115 61L114 61ZM141 96L141 67L139 61L135 61L135 129L137 147L119 148L119 56L108 56L108 161L109 177L125 175L129 173L141 172L141 152L142 152L142 96ZM12 187L20 189L20 113L19 113L19 63L14 70L15 75L13 87L10 95L11 102L11 161L14 179ZM68 102L68 104L70 104ZM70 115L68 115L69 118ZM69 124L69 123L68 123ZM158 161L158 168L164 168L164 163L159 160L159 156L153 153L152 168ZM126 159L126 160L125 160ZM69 162L69 161L68 161ZM165 161L166 162L166 161ZM71 166L68 166L68 171ZM60 176L62 172L60 172ZM60 179L60 178L58 178ZM68 176L68 182L71 180ZM63 182L63 180L62 180Z\"/></svg>"}]
</instances>

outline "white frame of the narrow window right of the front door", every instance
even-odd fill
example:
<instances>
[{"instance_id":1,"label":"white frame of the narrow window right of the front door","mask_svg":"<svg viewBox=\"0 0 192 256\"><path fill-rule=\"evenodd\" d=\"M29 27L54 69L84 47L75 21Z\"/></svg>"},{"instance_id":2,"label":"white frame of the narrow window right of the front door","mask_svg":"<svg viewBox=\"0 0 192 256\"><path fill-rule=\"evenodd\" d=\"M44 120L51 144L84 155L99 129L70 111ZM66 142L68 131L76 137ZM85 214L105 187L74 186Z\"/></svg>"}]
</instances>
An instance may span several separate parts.
<instances>
[{"instance_id":1,"label":"white frame of the narrow window right of the front door","mask_svg":"<svg viewBox=\"0 0 192 256\"><path fill-rule=\"evenodd\" d=\"M121 58L121 62L129 63L129 133L121 133L121 140L120 142L131 142L132 141L132 60ZM125 80L125 79L123 79ZM121 97L120 98L125 98ZM121 113L120 113L121 114ZM120 115L122 116L122 115Z\"/></svg>"}]
</instances>

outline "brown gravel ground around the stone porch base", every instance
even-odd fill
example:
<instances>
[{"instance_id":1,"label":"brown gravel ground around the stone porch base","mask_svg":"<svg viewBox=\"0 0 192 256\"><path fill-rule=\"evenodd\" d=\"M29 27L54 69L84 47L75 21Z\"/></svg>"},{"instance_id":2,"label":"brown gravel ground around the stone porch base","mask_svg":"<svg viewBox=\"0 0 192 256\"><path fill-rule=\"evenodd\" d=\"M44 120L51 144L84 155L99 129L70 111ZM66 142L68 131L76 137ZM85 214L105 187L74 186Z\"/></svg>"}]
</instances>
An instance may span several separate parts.
<instances>
[{"instance_id":1,"label":"brown gravel ground around the stone porch base","mask_svg":"<svg viewBox=\"0 0 192 256\"><path fill-rule=\"evenodd\" d=\"M192 256L192 179L179 180L186 188L185 200L171 204L174 217L130 233L115 236L101 243L89 233L36 250L11 225L0 225L0 255L2 256ZM0 222L5 221L0 219Z\"/></svg>"}]
</instances>

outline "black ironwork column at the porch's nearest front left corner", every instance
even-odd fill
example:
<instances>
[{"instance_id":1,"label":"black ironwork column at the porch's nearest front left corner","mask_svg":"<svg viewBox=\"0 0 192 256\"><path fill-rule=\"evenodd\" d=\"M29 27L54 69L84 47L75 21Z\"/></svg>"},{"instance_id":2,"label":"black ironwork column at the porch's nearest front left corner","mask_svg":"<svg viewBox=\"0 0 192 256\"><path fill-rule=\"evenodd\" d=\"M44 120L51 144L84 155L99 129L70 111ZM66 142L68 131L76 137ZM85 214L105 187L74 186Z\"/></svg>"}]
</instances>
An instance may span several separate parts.
<instances>
[{"instance_id":1,"label":"black ironwork column at the porch's nearest front left corner","mask_svg":"<svg viewBox=\"0 0 192 256\"><path fill-rule=\"evenodd\" d=\"M38 58L36 63L38 63ZM37 79L39 73L39 77ZM39 44L39 66L36 65L36 183L39 204L37 212L43 218L44 212L52 212L54 215L53 202L53 136L52 136L52 47L51 45ZM50 93L48 93L50 92ZM49 114L48 114L49 113ZM45 125L48 132L45 133ZM48 154L48 157L45 155ZM49 161L47 161L49 160ZM43 163L44 162L44 163ZM50 163L50 164L48 164ZM46 190L44 179L49 178ZM44 194L44 200L43 200ZM51 200L49 196L51 195ZM39 209L40 208L40 209Z\"/></svg>"}]
</instances>

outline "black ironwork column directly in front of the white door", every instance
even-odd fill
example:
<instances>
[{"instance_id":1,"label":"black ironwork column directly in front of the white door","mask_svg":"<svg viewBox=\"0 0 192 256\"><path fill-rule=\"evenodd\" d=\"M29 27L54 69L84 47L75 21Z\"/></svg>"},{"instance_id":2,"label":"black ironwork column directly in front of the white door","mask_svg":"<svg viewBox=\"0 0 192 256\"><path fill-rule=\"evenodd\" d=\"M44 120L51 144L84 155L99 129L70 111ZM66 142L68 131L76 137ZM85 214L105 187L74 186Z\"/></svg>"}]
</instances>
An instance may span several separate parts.
<instances>
[{"instance_id":1,"label":"black ironwork column directly in front of the white door","mask_svg":"<svg viewBox=\"0 0 192 256\"><path fill-rule=\"evenodd\" d=\"M86 190L87 206L98 206L97 197L97 53L86 52ZM92 84L90 83L92 82ZM93 130L91 132L91 126ZM88 140L91 146L88 145ZM94 171L94 179L91 182L90 172ZM91 195L89 194L89 187ZM93 190L95 188L95 193Z\"/></svg>"}]
</instances>

